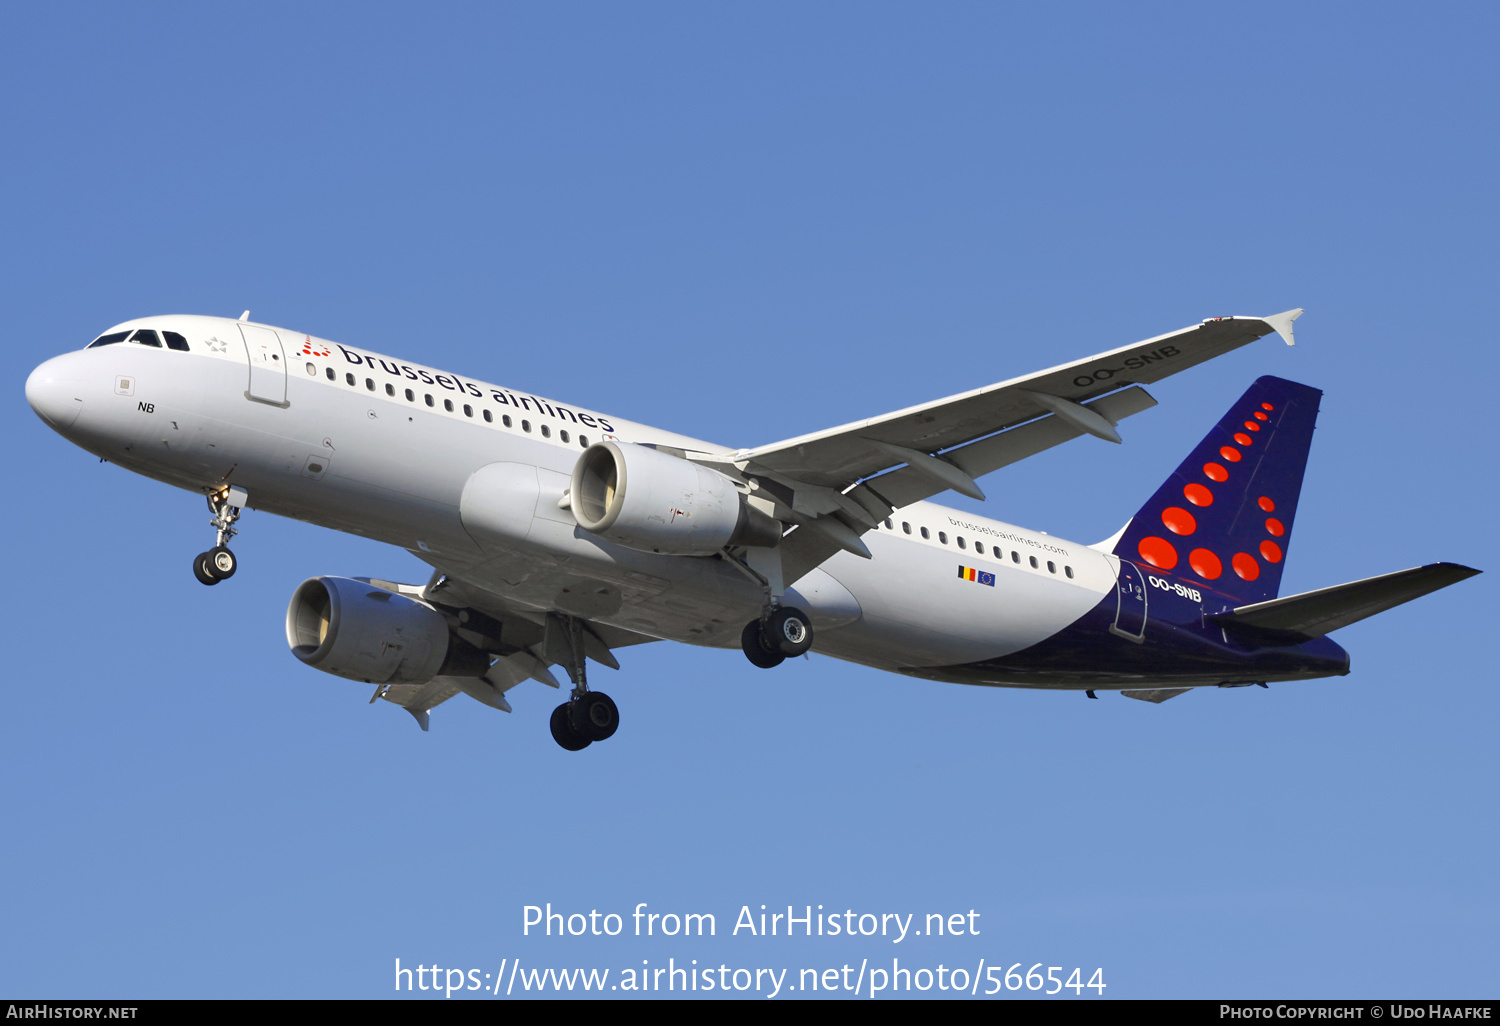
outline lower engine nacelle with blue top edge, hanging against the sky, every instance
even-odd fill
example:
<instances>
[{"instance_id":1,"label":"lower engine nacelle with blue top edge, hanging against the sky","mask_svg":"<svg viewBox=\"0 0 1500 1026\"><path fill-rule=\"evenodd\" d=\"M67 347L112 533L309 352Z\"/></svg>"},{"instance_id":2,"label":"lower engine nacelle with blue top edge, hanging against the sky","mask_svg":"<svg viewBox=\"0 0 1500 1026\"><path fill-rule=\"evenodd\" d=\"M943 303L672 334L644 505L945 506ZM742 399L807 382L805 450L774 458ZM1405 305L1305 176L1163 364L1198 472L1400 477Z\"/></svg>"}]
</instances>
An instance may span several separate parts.
<instances>
[{"instance_id":1,"label":"lower engine nacelle with blue top edge, hanging against the sky","mask_svg":"<svg viewBox=\"0 0 1500 1026\"><path fill-rule=\"evenodd\" d=\"M308 666L366 684L478 676L489 668L432 606L350 578L302 582L286 606L286 644Z\"/></svg>"}]
</instances>

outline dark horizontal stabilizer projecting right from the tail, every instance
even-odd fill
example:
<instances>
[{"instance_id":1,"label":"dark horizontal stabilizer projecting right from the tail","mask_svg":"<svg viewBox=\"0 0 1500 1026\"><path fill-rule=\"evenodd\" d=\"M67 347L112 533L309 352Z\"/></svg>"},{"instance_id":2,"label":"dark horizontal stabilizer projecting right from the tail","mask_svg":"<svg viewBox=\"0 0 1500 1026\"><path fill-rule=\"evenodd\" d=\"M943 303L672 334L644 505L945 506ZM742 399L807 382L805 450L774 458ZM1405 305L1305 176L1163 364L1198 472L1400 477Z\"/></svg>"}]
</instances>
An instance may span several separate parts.
<instances>
[{"instance_id":1,"label":"dark horizontal stabilizer projecting right from the tail","mask_svg":"<svg viewBox=\"0 0 1500 1026\"><path fill-rule=\"evenodd\" d=\"M1404 602L1473 578L1479 570L1456 562L1432 562L1378 578L1304 591L1300 596L1257 602L1210 616L1227 630L1248 628L1306 640L1374 616Z\"/></svg>"}]
</instances>

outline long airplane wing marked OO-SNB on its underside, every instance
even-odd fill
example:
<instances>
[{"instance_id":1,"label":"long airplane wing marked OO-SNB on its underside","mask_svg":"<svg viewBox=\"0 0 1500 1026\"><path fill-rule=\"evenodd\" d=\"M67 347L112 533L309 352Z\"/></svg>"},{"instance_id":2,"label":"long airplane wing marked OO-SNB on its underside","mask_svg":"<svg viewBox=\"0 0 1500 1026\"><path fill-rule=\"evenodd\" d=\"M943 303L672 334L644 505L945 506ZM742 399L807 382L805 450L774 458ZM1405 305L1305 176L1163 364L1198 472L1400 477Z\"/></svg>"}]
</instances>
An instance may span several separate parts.
<instances>
[{"instance_id":1,"label":"long airplane wing marked OO-SNB on its underside","mask_svg":"<svg viewBox=\"0 0 1500 1026\"><path fill-rule=\"evenodd\" d=\"M788 580L848 549L868 556L860 534L892 510L975 483L1008 464L1090 434L1120 441L1116 424L1156 405L1142 384L1278 333L1293 345L1300 309L1270 316L1215 316L1084 360L1000 381L870 420L688 458L753 478L752 498L798 528L786 536ZM804 530L806 528L806 530Z\"/></svg>"}]
</instances>

